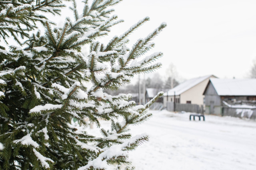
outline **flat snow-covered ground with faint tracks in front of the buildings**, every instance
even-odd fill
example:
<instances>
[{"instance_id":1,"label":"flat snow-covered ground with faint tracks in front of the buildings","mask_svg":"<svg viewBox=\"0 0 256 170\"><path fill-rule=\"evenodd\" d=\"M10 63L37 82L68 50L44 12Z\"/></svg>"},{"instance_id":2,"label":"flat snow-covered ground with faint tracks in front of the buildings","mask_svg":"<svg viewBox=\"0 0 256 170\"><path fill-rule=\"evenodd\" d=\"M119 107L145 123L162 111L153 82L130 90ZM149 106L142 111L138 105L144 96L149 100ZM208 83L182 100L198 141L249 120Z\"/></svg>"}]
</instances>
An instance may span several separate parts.
<instances>
[{"instance_id":1,"label":"flat snow-covered ground with faint tracks in front of the buildings","mask_svg":"<svg viewBox=\"0 0 256 170\"><path fill-rule=\"evenodd\" d=\"M151 111L153 117L131 127L150 141L130 153L137 170L255 170L256 121L190 113ZM102 122L106 126L106 122Z\"/></svg>"}]
</instances>

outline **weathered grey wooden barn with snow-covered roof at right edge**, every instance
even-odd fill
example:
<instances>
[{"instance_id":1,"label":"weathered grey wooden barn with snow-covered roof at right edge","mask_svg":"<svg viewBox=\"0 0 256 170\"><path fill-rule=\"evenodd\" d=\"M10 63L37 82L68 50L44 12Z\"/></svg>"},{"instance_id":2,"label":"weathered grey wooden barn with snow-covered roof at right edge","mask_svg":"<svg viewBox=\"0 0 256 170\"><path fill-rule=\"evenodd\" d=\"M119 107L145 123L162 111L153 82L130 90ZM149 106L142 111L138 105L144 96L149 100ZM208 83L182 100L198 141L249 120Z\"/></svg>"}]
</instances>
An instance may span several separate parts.
<instances>
[{"instance_id":1,"label":"weathered grey wooden barn with snow-covered roof at right edge","mask_svg":"<svg viewBox=\"0 0 256 170\"><path fill-rule=\"evenodd\" d=\"M210 78L203 94L205 113L221 115L224 103L256 100L256 79Z\"/></svg>"}]
</instances>

